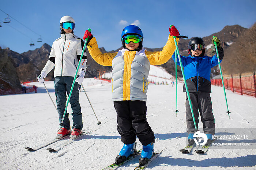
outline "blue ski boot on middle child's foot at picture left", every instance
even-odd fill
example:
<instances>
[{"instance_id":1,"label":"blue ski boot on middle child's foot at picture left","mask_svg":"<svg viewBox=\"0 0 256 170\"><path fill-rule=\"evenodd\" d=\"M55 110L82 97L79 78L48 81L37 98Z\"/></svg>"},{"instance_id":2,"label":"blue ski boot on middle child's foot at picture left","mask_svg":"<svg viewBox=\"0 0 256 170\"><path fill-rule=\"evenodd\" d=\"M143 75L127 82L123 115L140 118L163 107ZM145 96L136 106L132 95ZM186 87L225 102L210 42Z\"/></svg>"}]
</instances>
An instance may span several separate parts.
<instances>
[{"instance_id":1,"label":"blue ski boot on middle child's foot at picture left","mask_svg":"<svg viewBox=\"0 0 256 170\"><path fill-rule=\"evenodd\" d=\"M136 142L132 144L124 144L123 148L119 152L119 155L116 157L116 163L124 162L127 157L137 152L136 144Z\"/></svg>"}]
</instances>

